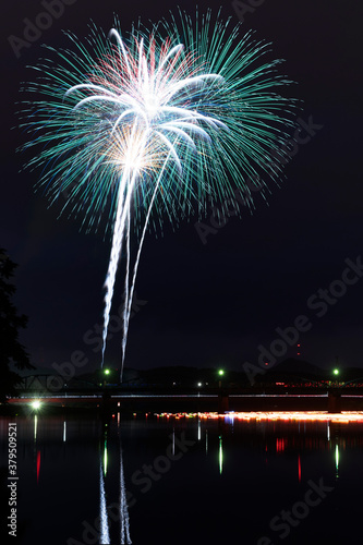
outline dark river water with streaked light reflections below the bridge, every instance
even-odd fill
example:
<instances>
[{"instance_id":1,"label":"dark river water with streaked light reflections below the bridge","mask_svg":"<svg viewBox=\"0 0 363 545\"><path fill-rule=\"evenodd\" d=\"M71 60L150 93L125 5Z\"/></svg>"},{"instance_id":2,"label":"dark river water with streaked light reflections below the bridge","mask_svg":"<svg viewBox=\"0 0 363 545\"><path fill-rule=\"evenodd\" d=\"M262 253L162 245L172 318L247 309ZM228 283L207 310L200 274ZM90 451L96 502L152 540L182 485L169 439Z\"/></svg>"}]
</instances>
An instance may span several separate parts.
<instances>
[{"instance_id":1,"label":"dark river water with streaked light reflections below the bridge","mask_svg":"<svg viewBox=\"0 0 363 545\"><path fill-rule=\"evenodd\" d=\"M267 416L2 417L7 497L12 422L17 440L9 543L361 543L363 423Z\"/></svg>"}]
</instances>

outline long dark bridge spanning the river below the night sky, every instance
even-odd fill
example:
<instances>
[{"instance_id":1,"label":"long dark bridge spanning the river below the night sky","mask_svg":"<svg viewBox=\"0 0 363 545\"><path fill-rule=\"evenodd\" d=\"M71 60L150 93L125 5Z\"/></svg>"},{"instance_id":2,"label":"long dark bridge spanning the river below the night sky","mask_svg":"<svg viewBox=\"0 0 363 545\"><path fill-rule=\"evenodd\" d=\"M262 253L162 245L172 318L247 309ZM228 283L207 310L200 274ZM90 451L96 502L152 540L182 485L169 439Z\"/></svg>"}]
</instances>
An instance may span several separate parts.
<instances>
[{"instance_id":1,"label":"long dark bridge spanning the river below the night sky","mask_svg":"<svg viewBox=\"0 0 363 545\"><path fill-rule=\"evenodd\" d=\"M24 405L35 399L48 407L107 408L124 412L205 412L218 411L356 411L363 410L360 379L342 385L308 386L254 385L210 386L205 388L107 385L61 375L27 375L10 403Z\"/></svg>"}]
</instances>

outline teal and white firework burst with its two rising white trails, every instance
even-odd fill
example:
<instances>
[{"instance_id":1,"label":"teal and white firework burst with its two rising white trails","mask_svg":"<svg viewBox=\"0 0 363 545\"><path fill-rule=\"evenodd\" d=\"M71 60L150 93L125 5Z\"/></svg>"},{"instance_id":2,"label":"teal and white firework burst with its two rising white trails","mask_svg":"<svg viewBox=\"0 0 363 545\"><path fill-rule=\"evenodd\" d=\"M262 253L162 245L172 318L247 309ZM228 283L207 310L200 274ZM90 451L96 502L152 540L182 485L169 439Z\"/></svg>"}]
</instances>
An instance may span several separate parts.
<instances>
[{"instance_id":1,"label":"teal and white firework burst with its two rising white trails","mask_svg":"<svg viewBox=\"0 0 363 545\"><path fill-rule=\"evenodd\" d=\"M28 166L47 165L39 183L51 202L70 189L63 209L82 213L88 229L109 210L102 362L118 263L125 257L121 370L146 229L161 226L162 217L178 222L193 203L203 213L207 196L232 197L235 186L251 196L246 181L270 177L269 159L287 154L281 144L292 101L273 90L288 83L276 74L280 61L261 63L267 45L250 34L241 39L229 24L213 26L208 12L193 25L180 14L180 23L133 28L128 40L116 28L107 40L93 27L85 45L70 36L75 52L43 61L43 81L27 88L46 96L27 102L33 116L25 125L35 129L27 147L43 145ZM134 264L132 225L143 233Z\"/></svg>"}]
</instances>

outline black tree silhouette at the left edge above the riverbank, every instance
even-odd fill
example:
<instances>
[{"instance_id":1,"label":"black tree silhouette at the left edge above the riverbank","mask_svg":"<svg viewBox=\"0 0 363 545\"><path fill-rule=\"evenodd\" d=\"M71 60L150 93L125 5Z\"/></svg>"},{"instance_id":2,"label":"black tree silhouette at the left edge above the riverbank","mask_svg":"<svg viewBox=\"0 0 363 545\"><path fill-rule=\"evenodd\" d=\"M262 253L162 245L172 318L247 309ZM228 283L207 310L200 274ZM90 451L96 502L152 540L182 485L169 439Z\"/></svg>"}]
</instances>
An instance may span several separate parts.
<instances>
[{"instance_id":1,"label":"black tree silhouette at the left edge above the riverbank","mask_svg":"<svg viewBox=\"0 0 363 545\"><path fill-rule=\"evenodd\" d=\"M19 341L19 330L26 327L27 317L19 315L12 303L16 289L11 279L16 267L5 251L0 249L0 401L14 395L15 386L21 382L21 376L11 371L11 364L19 370L35 368Z\"/></svg>"}]
</instances>

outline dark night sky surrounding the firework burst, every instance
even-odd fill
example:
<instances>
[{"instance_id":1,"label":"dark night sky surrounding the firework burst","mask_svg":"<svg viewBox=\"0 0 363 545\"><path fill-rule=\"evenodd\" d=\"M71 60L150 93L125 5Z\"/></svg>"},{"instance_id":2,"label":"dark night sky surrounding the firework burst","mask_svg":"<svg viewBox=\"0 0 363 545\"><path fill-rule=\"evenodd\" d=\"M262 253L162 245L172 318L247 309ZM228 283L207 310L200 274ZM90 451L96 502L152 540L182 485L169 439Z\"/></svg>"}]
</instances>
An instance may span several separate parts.
<instances>
[{"instance_id":1,"label":"dark night sky surrounding the firework burst","mask_svg":"<svg viewBox=\"0 0 363 545\"><path fill-rule=\"evenodd\" d=\"M190 0L180 5L195 11ZM202 0L198 7L217 10L219 2ZM37 62L41 43L62 45L62 29L85 36L89 19L108 31L117 12L128 31L138 16L157 21L172 8L76 0L19 58L8 36L22 37L24 19L34 21L44 8L14 0L2 13L0 246L20 265L16 304L29 317L22 341L36 365L70 361L75 350L88 360L82 371L99 364L97 341L87 343L84 336L99 337L110 240L78 232L80 221L58 220L59 207L47 209L34 194L37 173L19 172L23 158L15 148L23 135L10 129L17 123L20 83L31 77L26 65ZM238 23L231 2L222 14ZM331 284L341 280L347 258L355 263L363 254L362 16L355 0L266 0L245 13L245 31L273 41L274 57L286 59L283 71L298 82L290 94L304 100L301 119L322 126L299 146L281 187L271 186L269 206L257 196L252 216L245 210L241 219L231 217L206 244L193 218L176 232L167 227L164 237L147 235L136 281L137 299L147 303L130 323L126 366L242 370L245 361L257 362L261 344L269 348L279 338L276 328L293 326L300 315L310 326L298 340L304 360L323 367L337 356L347 366L363 364L363 278ZM349 278L354 281L354 272ZM318 305L319 289L337 290L335 303ZM121 294L119 286L112 314ZM119 331L107 348L106 361L116 367L120 343ZM295 347L274 348L281 350L277 360L297 353Z\"/></svg>"}]
</instances>

